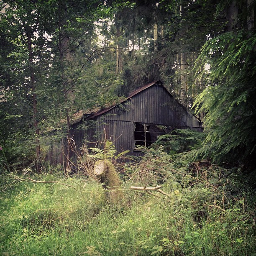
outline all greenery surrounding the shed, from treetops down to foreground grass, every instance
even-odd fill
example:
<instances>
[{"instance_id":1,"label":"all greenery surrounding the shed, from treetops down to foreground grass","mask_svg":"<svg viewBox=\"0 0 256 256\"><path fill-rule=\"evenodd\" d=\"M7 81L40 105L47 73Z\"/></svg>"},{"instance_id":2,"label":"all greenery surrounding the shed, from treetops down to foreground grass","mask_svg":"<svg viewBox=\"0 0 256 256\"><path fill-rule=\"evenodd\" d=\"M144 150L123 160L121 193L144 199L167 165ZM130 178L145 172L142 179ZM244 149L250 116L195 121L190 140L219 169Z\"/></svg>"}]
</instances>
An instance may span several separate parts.
<instances>
[{"instance_id":1,"label":"all greenery surrounding the shed, from treetops down to foreground grass","mask_svg":"<svg viewBox=\"0 0 256 256\"><path fill-rule=\"evenodd\" d=\"M255 1L0 9L0 255L256 255ZM83 145L73 163L72 116L157 79L194 105L206 132L160 136L122 165L124 198L111 204L95 160L127 152ZM44 138L63 136L67 168L47 166Z\"/></svg>"}]
</instances>

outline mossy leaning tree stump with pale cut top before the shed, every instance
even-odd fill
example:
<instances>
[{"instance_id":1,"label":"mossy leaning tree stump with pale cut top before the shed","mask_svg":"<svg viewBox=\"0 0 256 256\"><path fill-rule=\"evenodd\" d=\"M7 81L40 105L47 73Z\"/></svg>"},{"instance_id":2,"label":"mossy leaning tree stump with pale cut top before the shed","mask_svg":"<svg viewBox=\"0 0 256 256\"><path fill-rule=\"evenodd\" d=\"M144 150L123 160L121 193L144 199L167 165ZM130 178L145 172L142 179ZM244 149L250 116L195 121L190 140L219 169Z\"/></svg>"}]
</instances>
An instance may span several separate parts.
<instances>
[{"instance_id":1,"label":"mossy leaning tree stump with pale cut top before the shed","mask_svg":"<svg viewBox=\"0 0 256 256\"><path fill-rule=\"evenodd\" d=\"M121 182L113 164L109 160L99 160L95 163L93 172L104 184L107 200L114 204L120 202L123 199L123 191L120 188Z\"/></svg>"}]
</instances>

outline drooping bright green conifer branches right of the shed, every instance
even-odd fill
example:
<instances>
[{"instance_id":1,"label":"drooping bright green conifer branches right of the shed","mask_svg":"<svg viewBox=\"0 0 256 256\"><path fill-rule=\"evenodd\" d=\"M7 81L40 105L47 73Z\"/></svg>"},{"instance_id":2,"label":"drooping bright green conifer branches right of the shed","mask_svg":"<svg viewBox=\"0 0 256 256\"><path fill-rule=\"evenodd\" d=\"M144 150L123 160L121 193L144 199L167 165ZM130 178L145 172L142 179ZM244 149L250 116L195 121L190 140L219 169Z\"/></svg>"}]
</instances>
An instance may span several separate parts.
<instances>
[{"instance_id":1,"label":"drooping bright green conifer branches right of the shed","mask_svg":"<svg viewBox=\"0 0 256 256\"><path fill-rule=\"evenodd\" d=\"M210 71L198 77L207 88L195 103L198 112L207 113L203 157L246 162L256 152L255 46L251 31L238 31L215 37L202 48L198 71L210 64Z\"/></svg>"}]
</instances>

